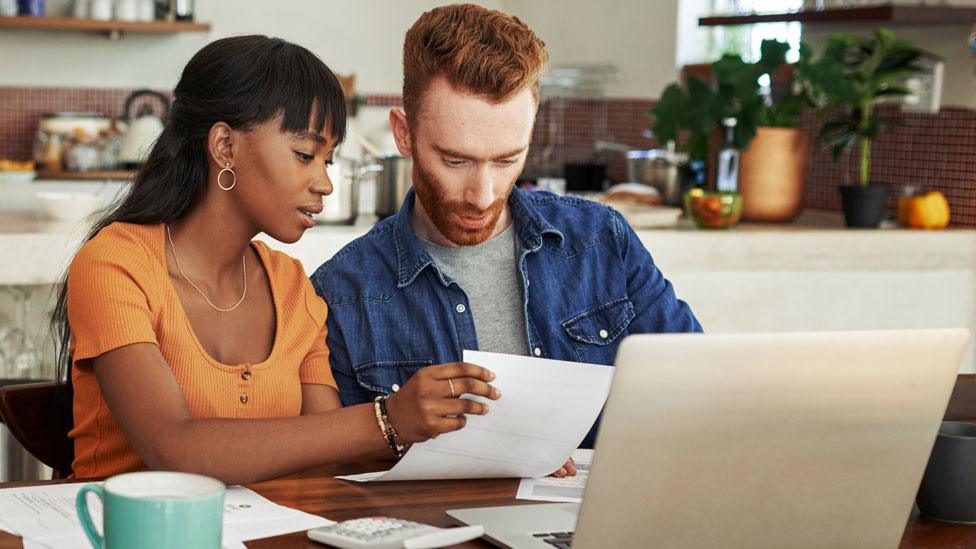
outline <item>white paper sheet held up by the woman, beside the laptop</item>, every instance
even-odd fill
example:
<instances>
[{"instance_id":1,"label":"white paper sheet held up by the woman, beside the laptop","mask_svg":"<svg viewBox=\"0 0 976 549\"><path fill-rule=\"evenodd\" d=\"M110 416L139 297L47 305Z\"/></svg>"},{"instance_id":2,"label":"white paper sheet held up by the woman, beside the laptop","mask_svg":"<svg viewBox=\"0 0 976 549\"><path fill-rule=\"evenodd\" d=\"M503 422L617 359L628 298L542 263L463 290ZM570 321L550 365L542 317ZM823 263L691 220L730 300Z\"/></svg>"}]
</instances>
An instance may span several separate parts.
<instances>
[{"instance_id":1,"label":"white paper sheet held up by the woman, beside the laptop","mask_svg":"<svg viewBox=\"0 0 976 549\"><path fill-rule=\"evenodd\" d=\"M501 399L463 429L414 444L389 471L338 477L370 480L542 477L559 469L593 426L610 392L613 368L561 360L464 351L488 368Z\"/></svg>"}]
</instances>

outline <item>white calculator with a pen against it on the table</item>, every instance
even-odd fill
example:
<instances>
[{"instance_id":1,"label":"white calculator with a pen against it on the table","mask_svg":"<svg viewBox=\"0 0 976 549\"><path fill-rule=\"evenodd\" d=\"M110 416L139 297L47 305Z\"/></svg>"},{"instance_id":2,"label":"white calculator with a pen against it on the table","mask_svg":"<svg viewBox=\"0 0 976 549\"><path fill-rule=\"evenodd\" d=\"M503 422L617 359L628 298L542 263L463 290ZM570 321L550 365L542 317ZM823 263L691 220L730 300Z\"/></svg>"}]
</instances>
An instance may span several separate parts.
<instances>
[{"instance_id":1,"label":"white calculator with a pen against it on the table","mask_svg":"<svg viewBox=\"0 0 976 549\"><path fill-rule=\"evenodd\" d=\"M308 531L312 541L340 549L431 549L480 538L483 526L438 528L391 517L364 517Z\"/></svg>"}]
</instances>

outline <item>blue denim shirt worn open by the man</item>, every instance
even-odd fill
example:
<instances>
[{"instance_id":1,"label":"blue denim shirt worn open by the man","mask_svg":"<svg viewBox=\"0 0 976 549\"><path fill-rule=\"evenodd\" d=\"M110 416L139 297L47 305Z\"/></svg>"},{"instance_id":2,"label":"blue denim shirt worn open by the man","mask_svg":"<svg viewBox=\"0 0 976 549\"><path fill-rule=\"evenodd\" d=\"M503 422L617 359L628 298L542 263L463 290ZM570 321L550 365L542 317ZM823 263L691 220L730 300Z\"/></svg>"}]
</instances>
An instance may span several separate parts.
<instances>
[{"instance_id":1,"label":"blue denim shirt worn open by the man","mask_svg":"<svg viewBox=\"0 0 976 549\"><path fill-rule=\"evenodd\" d=\"M478 349L464 290L418 240L413 204L411 190L398 213L311 277L329 305L326 341L344 405L390 394L420 368L458 362L465 349ZM615 210L518 188L508 205L530 355L612 365L627 334L701 331Z\"/></svg>"}]
</instances>

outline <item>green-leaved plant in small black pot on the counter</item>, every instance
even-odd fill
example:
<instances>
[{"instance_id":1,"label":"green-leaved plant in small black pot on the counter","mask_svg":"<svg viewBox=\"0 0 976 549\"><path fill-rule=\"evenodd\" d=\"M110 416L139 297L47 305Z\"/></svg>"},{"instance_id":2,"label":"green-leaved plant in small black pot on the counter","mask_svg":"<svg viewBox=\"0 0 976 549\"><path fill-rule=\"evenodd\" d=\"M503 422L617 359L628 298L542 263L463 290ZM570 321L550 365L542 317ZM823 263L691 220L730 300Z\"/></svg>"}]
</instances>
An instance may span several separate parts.
<instances>
[{"instance_id":1,"label":"green-leaved plant in small black pot on the counter","mask_svg":"<svg viewBox=\"0 0 976 549\"><path fill-rule=\"evenodd\" d=\"M926 72L918 62L936 57L907 40L896 40L885 28L875 29L870 37L834 35L824 56L843 63L843 82L849 85L827 83L827 117L817 142L831 149L835 161L857 147L857 184L840 186L844 218L848 227L878 227L888 187L871 180L871 144L893 122L875 107L882 98L908 94L905 80Z\"/></svg>"}]
</instances>

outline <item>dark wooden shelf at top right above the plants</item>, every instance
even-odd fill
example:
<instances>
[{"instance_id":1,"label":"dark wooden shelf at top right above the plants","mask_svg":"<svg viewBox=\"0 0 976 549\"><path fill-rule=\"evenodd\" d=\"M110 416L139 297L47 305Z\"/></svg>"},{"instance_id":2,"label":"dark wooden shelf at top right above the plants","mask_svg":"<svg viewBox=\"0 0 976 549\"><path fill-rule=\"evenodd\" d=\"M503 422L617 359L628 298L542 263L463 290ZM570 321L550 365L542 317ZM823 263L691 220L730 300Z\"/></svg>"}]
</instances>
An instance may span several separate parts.
<instances>
[{"instance_id":1,"label":"dark wooden shelf at top right above the plants","mask_svg":"<svg viewBox=\"0 0 976 549\"><path fill-rule=\"evenodd\" d=\"M700 17L702 27L752 25L797 21L804 24L877 24L886 25L970 25L976 20L976 7L962 6L860 6L799 10L749 15L714 15Z\"/></svg>"}]
</instances>

